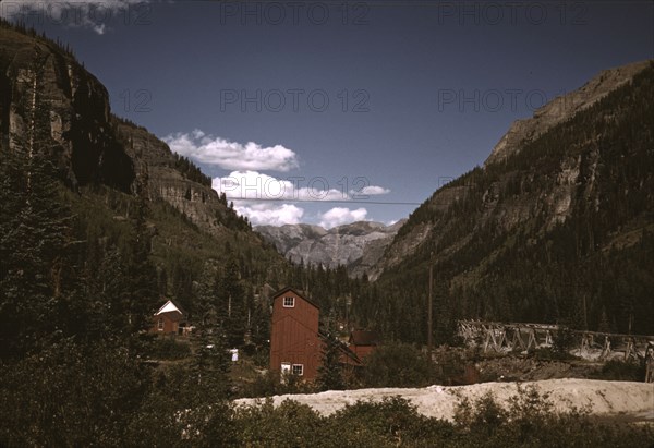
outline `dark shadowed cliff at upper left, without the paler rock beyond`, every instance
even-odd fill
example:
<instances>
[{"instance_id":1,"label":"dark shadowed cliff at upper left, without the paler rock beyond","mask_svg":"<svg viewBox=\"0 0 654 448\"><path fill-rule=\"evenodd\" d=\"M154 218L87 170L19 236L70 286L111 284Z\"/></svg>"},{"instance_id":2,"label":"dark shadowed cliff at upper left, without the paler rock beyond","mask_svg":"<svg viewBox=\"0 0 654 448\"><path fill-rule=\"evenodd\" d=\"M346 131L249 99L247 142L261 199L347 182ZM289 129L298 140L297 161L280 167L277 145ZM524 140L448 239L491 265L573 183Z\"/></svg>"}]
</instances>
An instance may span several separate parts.
<instances>
[{"instance_id":1,"label":"dark shadowed cliff at upper left, without the paler rock beyond","mask_svg":"<svg viewBox=\"0 0 654 448\"><path fill-rule=\"evenodd\" d=\"M129 190L131 161L114 138L105 86L47 41L3 27L0 48L2 144L12 147L27 134L28 109L37 104L47 109L49 123L39 125L49 128L51 159L69 185L99 181Z\"/></svg>"}]
</instances>

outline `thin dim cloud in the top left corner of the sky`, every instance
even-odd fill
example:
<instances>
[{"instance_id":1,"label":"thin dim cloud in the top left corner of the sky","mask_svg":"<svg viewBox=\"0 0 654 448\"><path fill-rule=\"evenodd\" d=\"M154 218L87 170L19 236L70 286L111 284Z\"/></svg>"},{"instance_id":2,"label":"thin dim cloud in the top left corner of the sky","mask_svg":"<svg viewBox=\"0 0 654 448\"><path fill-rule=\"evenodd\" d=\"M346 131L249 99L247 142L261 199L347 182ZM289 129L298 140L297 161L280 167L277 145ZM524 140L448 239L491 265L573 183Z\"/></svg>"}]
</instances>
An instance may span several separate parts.
<instances>
[{"instance_id":1,"label":"thin dim cloud in the top left corner of the sky","mask_svg":"<svg viewBox=\"0 0 654 448\"><path fill-rule=\"evenodd\" d=\"M0 3L0 16L9 21L83 27L104 35L112 25L149 24L148 0L21 0Z\"/></svg>"}]
</instances>

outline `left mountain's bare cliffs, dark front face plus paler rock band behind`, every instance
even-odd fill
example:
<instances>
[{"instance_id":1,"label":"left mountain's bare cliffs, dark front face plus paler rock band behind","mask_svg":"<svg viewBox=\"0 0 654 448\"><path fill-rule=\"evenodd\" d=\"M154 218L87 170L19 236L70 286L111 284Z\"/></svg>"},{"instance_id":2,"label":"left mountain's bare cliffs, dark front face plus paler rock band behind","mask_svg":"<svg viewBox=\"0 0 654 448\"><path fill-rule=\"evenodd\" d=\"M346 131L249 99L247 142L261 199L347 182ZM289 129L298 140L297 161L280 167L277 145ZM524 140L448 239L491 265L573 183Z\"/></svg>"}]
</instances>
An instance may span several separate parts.
<instances>
[{"instance_id":1,"label":"left mountain's bare cliffs, dark front face plus paler rock band behind","mask_svg":"<svg viewBox=\"0 0 654 448\"><path fill-rule=\"evenodd\" d=\"M7 27L0 28L0 48L2 145L25 145L33 111L43 109L47 118L38 126L48 142L39 146L49 148L69 186L102 183L133 194L147 180L150 199L167 202L214 235L246 227L209 185L175 168L166 143L112 116L105 86L71 55Z\"/></svg>"}]
</instances>

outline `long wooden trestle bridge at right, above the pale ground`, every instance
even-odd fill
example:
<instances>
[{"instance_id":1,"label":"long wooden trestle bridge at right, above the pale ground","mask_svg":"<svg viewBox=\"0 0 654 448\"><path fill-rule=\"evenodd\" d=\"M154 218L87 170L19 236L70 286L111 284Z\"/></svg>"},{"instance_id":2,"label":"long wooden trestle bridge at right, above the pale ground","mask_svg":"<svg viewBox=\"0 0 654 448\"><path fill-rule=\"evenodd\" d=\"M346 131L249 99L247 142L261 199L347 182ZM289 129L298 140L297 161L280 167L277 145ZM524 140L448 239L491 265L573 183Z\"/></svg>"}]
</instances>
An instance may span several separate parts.
<instances>
[{"instance_id":1,"label":"long wooden trestle bridge at right, above the pale ground","mask_svg":"<svg viewBox=\"0 0 654 448\"><path fill-rule=\"evenodd\" d=\"M459 320L458 334L468 346L483 347L484 352L529 351L553 347L559 331L571 337L572 354L597 353L606 360L611 353L623 353L625 360L645 359L650 382L654 380L654 336L618 335L600 331L570 330L547 324L504 324L497 322Z\"/></svg>"}]
</instances>

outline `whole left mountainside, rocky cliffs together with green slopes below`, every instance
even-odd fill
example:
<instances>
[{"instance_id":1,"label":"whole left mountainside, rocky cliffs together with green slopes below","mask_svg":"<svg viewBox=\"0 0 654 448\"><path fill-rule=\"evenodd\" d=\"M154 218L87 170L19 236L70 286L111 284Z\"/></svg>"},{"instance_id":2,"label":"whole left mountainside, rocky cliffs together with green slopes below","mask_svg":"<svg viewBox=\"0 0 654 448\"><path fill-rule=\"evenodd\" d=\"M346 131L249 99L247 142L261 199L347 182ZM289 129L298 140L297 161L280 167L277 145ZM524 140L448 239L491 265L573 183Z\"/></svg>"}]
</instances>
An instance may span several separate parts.
<instances>
[{"instance_id":1,"label":"whole left mountainside, rocky cliffs together with green slopes below","mask_svg":"<svg viewBox=\"0 0 654 448\"><path fill-rule=\"evenodd\" d=\"M288 268L197 167L145 128L114 116L107 88L72 52L7 22L0 24L0 146L15 153L25 146L23 135L38 134L35 144L53 162L70 190L63 197L87 227L87 244L128 252L130 221L145 198L161 294L189 311L198 281L213 281L229 263L249 274L249 288ZM38 122L36 116L43 116Z\"/></svg>"}]
</instances>

